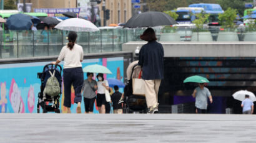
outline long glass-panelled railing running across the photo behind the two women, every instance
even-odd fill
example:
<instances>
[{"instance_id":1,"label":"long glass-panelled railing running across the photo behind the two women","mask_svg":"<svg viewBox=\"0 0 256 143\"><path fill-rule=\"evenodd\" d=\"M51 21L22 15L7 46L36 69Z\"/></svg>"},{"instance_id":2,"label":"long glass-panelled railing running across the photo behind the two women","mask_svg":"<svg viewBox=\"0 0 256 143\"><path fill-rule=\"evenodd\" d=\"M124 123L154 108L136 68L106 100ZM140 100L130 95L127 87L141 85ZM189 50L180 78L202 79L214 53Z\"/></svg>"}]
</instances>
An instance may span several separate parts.
<instances>
[{"instance_id":1,"label":"long glass-panelled railing running across the photo behind the two women","mask_svg":"<svg viewBox=\"0 0 256 143\"><path fill-rule=\"evenodd\" d=\"M190 27L155 27L157 39L168 42L192 41L255 41L254 30L191 29ZM140 41L142 29L101 29L98 32L77 32L77 44L84 53L122 51L122 44ZM0 32L0 58L28 58L59 55L67 43L65 30L2 30Z\"/></svg>"}]
</instances>

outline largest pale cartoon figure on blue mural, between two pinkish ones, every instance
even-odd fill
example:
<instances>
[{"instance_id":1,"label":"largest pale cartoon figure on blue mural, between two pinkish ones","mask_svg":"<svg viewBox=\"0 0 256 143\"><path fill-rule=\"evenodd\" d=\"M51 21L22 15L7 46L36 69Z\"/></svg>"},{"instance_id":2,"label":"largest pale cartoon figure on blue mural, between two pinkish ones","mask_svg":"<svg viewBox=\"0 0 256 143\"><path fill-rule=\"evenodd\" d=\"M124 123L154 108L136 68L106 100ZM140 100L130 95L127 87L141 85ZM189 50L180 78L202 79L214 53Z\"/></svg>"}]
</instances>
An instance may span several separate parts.
<instances>
[{"instance_id":1,"label":"largest pale cartoon figure on blue mural, between two pinkish ones","mask_svg":"<svg viewBox=\"0 0 256 143\"><path fill-rule=\"evenodd\" d=\"M24 113L25 107L24 102L21 98L21 91L19 90L17 83L14 79L12 79L11 81L9 99L14 113Z\"/></svg>"}]
</instances>

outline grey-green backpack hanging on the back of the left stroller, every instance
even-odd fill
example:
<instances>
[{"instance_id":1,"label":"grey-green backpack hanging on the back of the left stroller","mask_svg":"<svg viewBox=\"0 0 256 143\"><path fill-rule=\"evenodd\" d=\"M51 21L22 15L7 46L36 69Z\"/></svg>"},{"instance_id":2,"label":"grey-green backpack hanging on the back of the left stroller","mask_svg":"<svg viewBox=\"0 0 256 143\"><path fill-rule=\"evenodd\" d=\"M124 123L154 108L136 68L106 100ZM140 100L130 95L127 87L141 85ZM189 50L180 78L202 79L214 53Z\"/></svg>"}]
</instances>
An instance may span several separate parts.
<instances>
[{"instance_id":1,"label":"grey-green backpack hanging on the back of the left stroller","mask_svg":"<svg viewBox=\"0 0 256 143\"><path fill-rule=\"evenodd\" d=\"M53 74L49 70L51 77L49 77L46 81L46 86L44 87L44 93L49 96L57 96L59 95L61 88L59 86L59 81L57 80L55 75L55 70Z\"/></svg>"}]
</instances>

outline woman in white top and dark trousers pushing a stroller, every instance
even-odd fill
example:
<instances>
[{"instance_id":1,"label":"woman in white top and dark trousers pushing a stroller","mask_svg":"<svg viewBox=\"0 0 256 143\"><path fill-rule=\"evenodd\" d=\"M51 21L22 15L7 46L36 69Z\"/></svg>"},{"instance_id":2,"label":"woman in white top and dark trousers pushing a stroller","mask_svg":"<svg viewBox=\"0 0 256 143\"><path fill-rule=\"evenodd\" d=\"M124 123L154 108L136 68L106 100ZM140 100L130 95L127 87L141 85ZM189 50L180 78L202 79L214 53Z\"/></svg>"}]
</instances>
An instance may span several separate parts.
<instances>
[{"instance_id":1,"label":"woman in white top and dark trousers pushing a stroller","mask_svg":"<svg viewBox=\"0 0 256 143\"><path fill-rule=\"evenodd\" d=\"M84 73L82 71L82 60L84 52L81 45L75 44L77 39L76 32L69 32L68 39L69 43L62 47L61 53L56 62L52 62L57 65L64 59L63 68L63 80L64 80L64 106L67 108L67 113L71 113L71 85L74 87L75 99L77 103L77 113L81 113L81 91L82 84L84 82Z\"/></svg>"}]
</instances>

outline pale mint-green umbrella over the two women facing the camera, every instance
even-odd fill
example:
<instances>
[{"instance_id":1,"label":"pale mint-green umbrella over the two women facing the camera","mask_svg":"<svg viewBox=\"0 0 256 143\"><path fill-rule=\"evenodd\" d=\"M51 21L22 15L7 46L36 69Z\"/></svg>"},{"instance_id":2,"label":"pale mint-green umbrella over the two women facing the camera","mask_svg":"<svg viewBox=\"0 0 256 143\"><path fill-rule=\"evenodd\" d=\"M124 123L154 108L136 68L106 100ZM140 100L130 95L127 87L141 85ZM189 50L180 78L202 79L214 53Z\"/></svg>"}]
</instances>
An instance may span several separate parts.
<instances>
[{"instance_id":1,"label":"pale mint-green umbrella over the two women facing the camera","mask_svg":"<svg viewBox=\"0 0 256 143\"><path fill-rule=\"evenodd\" d=\"M95 65L88 65L88 66L84 67L82 69L82 71L84 71L86 73L106 73L106 74L112 74L112 72L108 68L106 68L106 67L104 67L102 65L97 65L97 64L95 64Z\"/></svg>"}]
</instances>

